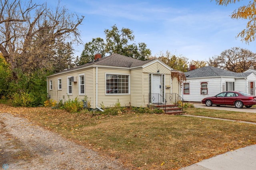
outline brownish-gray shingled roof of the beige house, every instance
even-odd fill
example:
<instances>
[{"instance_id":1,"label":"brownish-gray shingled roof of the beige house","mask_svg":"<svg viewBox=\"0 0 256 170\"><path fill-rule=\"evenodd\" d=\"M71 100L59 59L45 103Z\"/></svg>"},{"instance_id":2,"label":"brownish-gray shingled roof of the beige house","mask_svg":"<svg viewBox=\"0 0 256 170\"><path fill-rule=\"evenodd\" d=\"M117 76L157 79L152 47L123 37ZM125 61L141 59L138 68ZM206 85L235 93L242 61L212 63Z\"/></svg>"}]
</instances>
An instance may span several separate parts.
<instances>
[{"instance_id":1,"label":"brownish-gray shingled roof of the beige house","mask_svg":"<svg viewBox=\"0 0 256 170\"><path fill-rule=\"evenodd\" d=\"M113 67L128 67L129 68L129 67L142 66L142 65L149 63L153 60L154 59L141 61L139 59L134 59L132 57L127 57L127 56L120 55L120 54L112 54L112 55L109 55L108 57L103 57L96 61L86 63L84 65L79 65L77 67L73 67L69 70L64 70L64 71L75 70L75 69L87 67L90 65L106 65L106 66L113 66ZM64 71L61 71L61 72L64 72Z\"/></svg>"}]
</instances>

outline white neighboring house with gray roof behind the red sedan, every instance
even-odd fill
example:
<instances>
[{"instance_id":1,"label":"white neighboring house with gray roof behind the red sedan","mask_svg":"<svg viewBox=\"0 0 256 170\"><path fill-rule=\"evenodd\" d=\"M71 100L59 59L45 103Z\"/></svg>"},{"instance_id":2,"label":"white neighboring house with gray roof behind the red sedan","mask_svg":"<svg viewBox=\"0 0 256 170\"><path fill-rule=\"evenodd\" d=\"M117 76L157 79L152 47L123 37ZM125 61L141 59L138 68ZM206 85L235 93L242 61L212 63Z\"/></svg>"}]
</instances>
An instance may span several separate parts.
<instances>
[{"instance_id":1,"label":"white neighboring house with gray roof behind the red sedan","mask_svg":"<svg viewBox=\"0 0 256 170\"><path fill-rule=\"evenodd\" d=\"M202 101L223 91L244 91L255 95L256 74L252 71L234 73L206 66L184 73L182 97L184 101Z\"/></svg>"}]
</instances>

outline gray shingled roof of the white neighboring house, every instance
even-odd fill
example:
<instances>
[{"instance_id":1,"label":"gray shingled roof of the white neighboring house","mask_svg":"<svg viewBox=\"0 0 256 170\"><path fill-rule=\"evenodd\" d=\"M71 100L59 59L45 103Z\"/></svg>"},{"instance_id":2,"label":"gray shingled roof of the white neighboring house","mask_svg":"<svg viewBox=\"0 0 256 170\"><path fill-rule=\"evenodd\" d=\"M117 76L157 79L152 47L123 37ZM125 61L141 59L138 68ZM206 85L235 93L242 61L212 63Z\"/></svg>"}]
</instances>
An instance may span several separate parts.
<instances>
[{"instance_id":1,"label":"gray shingled roof of the white neighboring house","mask_svg":"<svg viewBox=\"0 0 256 170\"><path fill-rule=\"evenodd\" d=\"M234 73L232 71L227 71L224 69L206 66L199 69L194 69L184 73L187 78L196 77L215 77L215 76L229 76L229 77L247 77L251 73Z\"/></svg>"}]
</instances>

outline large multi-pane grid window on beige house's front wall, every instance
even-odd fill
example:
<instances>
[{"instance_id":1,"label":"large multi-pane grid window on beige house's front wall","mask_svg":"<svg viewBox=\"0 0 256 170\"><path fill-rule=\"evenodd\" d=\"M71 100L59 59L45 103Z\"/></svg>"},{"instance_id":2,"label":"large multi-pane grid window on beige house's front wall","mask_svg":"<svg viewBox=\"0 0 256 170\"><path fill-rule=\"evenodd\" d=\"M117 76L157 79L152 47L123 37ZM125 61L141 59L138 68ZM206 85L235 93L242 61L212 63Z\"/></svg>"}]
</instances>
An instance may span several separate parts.
<instances>
[{"instance_id":1,"label":"large multi-pane grid window on beige house's front wall","mask_svg":"<svg viewBox=\"0 0 256 170\"><path fill-rule=\"evenodd\" d=\"M106 94L129 94L129 75L106 74Z\"/></svg>"}]
</instances>

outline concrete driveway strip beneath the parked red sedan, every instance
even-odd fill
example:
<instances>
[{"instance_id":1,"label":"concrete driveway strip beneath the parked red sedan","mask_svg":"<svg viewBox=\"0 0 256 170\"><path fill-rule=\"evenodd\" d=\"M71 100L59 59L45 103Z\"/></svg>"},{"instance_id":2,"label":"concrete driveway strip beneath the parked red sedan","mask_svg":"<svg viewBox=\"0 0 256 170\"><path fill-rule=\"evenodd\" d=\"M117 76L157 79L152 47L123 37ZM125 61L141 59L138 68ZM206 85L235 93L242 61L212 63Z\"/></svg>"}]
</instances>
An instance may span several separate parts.
<instances>
[{"instance_id":1,"label":"concrete driveway strip beneath the parked red sedan","mask_svg":"<svg viewBox=\"0 0 256 170\"><path fill-rule=\"evenodd\" d=\"M210 107L206 106L205 104L202 104L200 102L192 103L195 108L204 108L204 109L215 109L215 110L223 110L223 111L235 111L235 112L248 112L248 113L256 113L256 108L246 108L243 107L242 109L237 109L234 106L216 106L212 105Z\"/></svg>"}]
</instances>

